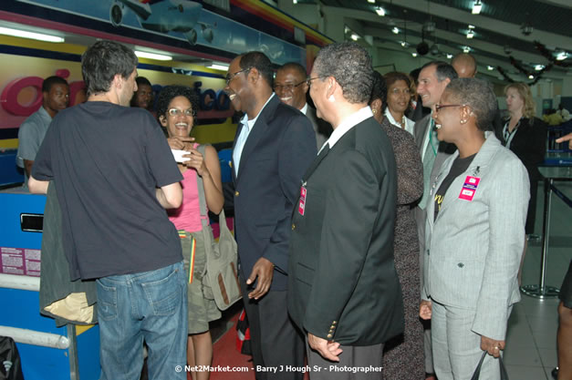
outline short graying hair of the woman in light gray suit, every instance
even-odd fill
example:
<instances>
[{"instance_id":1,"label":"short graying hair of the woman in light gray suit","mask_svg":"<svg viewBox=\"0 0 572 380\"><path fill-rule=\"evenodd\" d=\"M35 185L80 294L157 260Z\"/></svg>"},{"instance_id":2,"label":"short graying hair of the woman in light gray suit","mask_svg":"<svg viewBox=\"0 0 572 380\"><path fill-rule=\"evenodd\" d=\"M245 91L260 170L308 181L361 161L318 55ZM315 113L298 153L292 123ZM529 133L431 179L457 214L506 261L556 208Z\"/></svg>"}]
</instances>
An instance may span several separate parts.
<instances>
[{"instance_id":1,"label":"short graying hair of the woman in light gray suit","mask_svg":"<svg viewBox=\"0 0 572 380\"><path fill-rule=\"evenodd\" d=\"M449 93L459 104L471 108L476 116L477 128L493 130L494 114L498 106L489 82L474 77L459 77L452 79L444 92Z\"/></svg>"}]
</instances>

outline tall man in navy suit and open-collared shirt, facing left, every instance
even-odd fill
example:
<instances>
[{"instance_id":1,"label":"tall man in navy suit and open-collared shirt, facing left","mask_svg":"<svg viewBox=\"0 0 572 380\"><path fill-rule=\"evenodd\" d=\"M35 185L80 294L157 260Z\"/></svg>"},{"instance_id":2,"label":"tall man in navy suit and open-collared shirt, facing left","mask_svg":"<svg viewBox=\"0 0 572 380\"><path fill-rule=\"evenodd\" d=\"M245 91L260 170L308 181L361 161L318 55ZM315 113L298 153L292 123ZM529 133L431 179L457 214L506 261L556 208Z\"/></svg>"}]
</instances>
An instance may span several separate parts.
<instances>
[{"instance_id":1,"label":"tall man in navy suit and open-collared shirt, facing left","mask_svg":"<svg viewBox=\"0 0 572 380\"><path fill-rule=\"evenodd\" d=\"M233 146L234 231L257 380L301 380L304 341L286 312L290 216L302 175L316 157L310 121L272 92L260 52L237 56L224 91L244 112ZM280 371L282 368L282 371Z\"/></svg>"}]
</instances>

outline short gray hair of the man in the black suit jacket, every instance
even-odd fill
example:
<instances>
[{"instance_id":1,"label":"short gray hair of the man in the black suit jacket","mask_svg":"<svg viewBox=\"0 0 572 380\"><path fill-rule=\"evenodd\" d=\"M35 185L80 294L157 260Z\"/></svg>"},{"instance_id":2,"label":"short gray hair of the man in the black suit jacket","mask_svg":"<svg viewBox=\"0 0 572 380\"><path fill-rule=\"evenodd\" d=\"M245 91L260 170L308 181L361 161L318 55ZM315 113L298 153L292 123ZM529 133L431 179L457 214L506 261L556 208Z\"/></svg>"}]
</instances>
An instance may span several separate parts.
<instances>
[{"instance_id":1,"label":"short gray hair of the man in the black suit jacket","mask_svg":"<svg viewBox=\"0 0 572 380\"><path fill-rule=\"evenodd\" d=\"M335 77L349 103L368 103L373 83L371 56L355 42L322 48L314 63L318 77Z\"/></svg>"}]
</instances>

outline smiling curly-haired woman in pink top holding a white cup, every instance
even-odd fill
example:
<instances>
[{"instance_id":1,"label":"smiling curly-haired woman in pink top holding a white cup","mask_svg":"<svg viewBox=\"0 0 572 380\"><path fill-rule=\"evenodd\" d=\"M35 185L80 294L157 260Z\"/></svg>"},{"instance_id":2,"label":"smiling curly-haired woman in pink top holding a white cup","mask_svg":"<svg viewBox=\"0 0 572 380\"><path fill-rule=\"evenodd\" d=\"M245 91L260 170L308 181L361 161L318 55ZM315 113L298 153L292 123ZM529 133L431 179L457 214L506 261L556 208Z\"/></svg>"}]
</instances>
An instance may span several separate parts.
<instances>
[{"instance_id":1,"label":"smiling curly-haired woman in pink top holding a white cup","mask_svg":"<svg viewBox=\"0 0 572 380\"><path fill-rule=\"evenodd\" d=\"M203 190L208 210L218 214L223 210L224 197L221 183L221 167L216 150L212 146L204 147L204 155L198 150L199 144L189 143L198 99L190 87L164 87L157 99L157 115L163 128L167 129L168 142L172 149L184 149L190 153L189 159L179 163L183 180L182 205L169 211L169 219L179 230L180 236L189 235L196 241L193 260L190 249L182 241L182 257L185 266L192 267L192 282L189 283L189 340L187 344L187 362L190 366L211 365L213 359L213 341L209 332L209 322L221 317L214 303L212 290L203 281L206 265L206 252L203 241L203 223L197 178L203 179ZM208 228L208 226L207 226ZM209 228L209 233L212 233ZM191 264L190 264L191 262ZM210 296L209 296L210 294ZM209 372L192 372L193 380L206 380Z\"/></svg>"}]
</instances>

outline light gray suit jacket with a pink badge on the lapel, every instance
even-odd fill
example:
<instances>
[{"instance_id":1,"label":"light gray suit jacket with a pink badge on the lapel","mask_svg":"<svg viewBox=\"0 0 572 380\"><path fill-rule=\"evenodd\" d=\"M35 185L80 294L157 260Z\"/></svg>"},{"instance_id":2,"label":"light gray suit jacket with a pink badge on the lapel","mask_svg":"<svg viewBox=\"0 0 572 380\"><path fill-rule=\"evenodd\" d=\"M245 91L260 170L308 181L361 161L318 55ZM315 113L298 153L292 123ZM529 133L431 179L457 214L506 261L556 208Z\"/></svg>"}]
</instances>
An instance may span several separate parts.
<instances>
[{"instance_id":1,"label":"light gray suit jacket with a pink badge on the lapel","mask_svg":"<svg viewBox=\"0 0 572 380\"><path fill-rule=\"evenodd\" d=\"M458 156L443 163L432 196ZM480 179L473 200L459 198L467 176ZM529 197L524 165L490 132L469 168L452 181L435 221L434 201L428 202L422 298L474 310L472 331L504 340L509 306L520 301L516 274Z\"/></svg>"}]
</instances>

